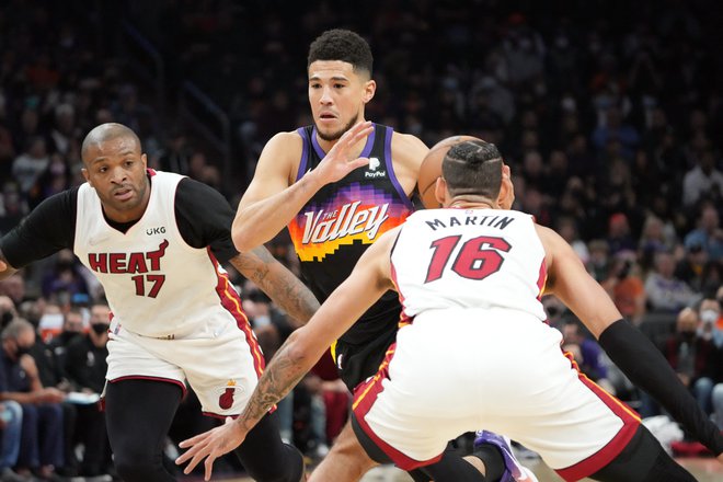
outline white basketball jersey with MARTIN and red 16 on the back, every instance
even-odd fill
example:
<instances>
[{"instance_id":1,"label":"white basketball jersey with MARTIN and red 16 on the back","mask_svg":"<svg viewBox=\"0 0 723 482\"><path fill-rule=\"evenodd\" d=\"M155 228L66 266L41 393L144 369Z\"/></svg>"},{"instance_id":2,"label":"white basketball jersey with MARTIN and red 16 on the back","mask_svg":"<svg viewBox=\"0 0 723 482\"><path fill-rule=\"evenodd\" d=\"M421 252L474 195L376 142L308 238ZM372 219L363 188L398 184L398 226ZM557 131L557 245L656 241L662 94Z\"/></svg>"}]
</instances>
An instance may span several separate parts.
<instances>
[{"instance_id":1,"label":"white basketball jersey with MARTIN and red 16 on the back","mask_svg":"<svg viewBox=\"0 0 723 482\"><path fill-rule=\"evenodd\" d=\"M524 213L416 211L402 225L391 266L406 318L462 307L509 308L546 320L544 249Z\"/></svg>"}]
</instances>

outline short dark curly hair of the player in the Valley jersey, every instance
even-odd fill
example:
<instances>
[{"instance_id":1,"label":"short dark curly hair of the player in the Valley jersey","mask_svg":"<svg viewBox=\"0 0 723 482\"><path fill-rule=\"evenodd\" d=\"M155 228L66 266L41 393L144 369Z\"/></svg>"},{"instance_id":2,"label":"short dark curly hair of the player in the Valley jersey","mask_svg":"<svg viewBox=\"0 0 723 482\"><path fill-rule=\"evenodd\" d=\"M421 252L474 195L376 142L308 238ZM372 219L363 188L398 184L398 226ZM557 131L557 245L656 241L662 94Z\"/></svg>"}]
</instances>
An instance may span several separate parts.
<instances>
[{"instance_id":1,"label":"short dark curly hair of the player in the Valley jersey","mask_svg":"<svg viewBox=\"0 0 723 482\"><path fill-rule=\"evenodd\" d=\"M342 60L352 64L354 71L371 77L374 57L367 41L348 30L334 28L319 35L309 46L307 69L317 60Z\"/></svg>"}]
</instances>

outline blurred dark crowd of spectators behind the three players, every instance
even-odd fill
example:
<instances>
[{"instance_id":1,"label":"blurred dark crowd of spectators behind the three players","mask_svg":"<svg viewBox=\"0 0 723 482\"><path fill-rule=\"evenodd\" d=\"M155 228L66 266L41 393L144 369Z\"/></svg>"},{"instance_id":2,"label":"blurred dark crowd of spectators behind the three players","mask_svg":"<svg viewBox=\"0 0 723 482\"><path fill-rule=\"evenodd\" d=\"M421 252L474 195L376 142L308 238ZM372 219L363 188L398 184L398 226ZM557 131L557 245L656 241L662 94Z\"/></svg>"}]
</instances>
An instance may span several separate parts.
<instances>
[{"instance_id":1,"label":"blurred dark crowd of spectators behind the three players","mask_svg":"<svg viewBox=\"0 0 723 482\"><path fill-rule=\"evenodd\" d=\"M0 234L44 198L83 181L80 144L105 122L136 130L151 168L205 182L234 205L268 138L311 123L309 43L326 28L352 28L375 55L378 88L367 118L428 146L452 134L495 142L512 167L515 208L573 245L723 428L723 33L715 7L712 0L5 0ZM214 128L209 112L223 128ZM286 236L269 248L296 268ZM272 356L294 323L231 274ZM112 472L105 451L84 463L83 437L97 433L72 428L69 420L84 416L83 405L67 397L100 390L73 379L66 353L77 336L88 338L79 363L101 366L94 377L102 381L104 342L91 333L102 324L92 312L103 303L102 287L69 252L0 283L2 328L30 322L37 365L44 357L55 364L44 387L28 390L65 393L37 398L65 406L57 415L65 422L55 421L65 427L62 454L37 447L51 423L39 417L35 428L22 427L37 431L36 447L22 445L11 461L3 445L0 469L13 467L21 477L25 469L49 477L54 470L43 467ZM544 303L590 378L643 415L659 413L572 313L553 298ZM18 325L3 331L3 348L22 344L18 333ZM282 409L284 436L322 457L344 422L347 397L325 360ZM16 410L0 400L0 415ZM12 432L8 420L0 416L3 434ZM192 394L169 457L180 438L211 423L198 416Z\"/></svg>"}]
</instances>

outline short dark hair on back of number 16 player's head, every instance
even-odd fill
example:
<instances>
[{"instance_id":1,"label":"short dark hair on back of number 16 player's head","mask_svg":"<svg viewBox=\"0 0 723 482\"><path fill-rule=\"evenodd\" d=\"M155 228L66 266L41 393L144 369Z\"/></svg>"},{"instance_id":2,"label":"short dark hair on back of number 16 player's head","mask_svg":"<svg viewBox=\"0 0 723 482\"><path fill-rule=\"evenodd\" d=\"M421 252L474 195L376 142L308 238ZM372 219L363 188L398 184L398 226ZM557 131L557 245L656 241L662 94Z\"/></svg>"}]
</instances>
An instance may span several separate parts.
<instances>
[{"instance_id":1,"label":"short dark hair on back of number 16 player's head","mask_svg":"<svg viewBox=\"0 0 723 482\"><path fill-rule=\"evenodd\" d=\"M447 151L441 175L452 196L472 194L496 199L502 185L502 154L494 144L466 140Z\"/></svg>"}]
</instances>

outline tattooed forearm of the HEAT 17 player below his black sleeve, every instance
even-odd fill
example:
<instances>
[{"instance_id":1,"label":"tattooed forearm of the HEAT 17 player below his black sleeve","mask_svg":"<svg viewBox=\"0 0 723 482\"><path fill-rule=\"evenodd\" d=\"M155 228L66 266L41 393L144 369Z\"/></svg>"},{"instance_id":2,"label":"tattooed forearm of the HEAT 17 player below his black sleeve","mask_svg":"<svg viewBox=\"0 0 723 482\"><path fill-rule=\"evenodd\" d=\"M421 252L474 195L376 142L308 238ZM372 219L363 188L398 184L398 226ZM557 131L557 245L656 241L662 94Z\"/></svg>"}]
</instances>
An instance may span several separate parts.
<instances>
[{"instance_id":1,"label":"tattooed forearm of the HEAT 17 player below his black sleeve","mask_svg":"<svg viewBox=\"0 0 723 482\"><path fill-rule=\"evenodd\" d=\"M306 323L319 309L319 301L309 288L264 246L239 254L231 264L297 321Z\"/></svg>"}]
</instances>

